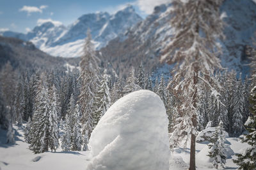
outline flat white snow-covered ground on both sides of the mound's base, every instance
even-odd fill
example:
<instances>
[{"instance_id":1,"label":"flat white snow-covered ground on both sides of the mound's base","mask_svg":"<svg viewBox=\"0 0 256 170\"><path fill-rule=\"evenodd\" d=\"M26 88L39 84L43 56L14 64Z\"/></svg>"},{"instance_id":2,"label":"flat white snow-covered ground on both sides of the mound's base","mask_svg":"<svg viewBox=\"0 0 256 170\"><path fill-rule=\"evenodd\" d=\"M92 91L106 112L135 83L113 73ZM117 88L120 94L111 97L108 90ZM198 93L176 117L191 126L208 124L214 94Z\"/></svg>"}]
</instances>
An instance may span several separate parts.
<instances>
[{"instance_id":1,"label":"flat white snow-covered ground on both sides of the mound's base","mask_svg":"<svg viewBox=\"0 0 256 170\"><path fill-rule=\"evenodd\" d=\"M25 126L25 125L24 125ZM88 151L68 151L61 152L59 149L56 153L40 153L34 154L28 149L28 144L24 142L23 129L24 127L14 126L16 130L16 144L7 145L4 143L4 133L0 130L0 169L1 170L36 170L36 169L54 169L54 170L70 170L83 169L85 170L87 164L92 159L92 155ZM247 144L240 143L235 137L227 138L231 143L230 148L239 153L247 146ZM214 169L209 158L206 156L207 144L196 143L196 166L198 170ZM37 162L33 162L35 157L41 157ZM235 155L231 156L236 158ZM170 157L170 170L186 169L189 165L189 149L174 148ZM237 169L236 164L232 162L231 158L227 159L226 169Z\"/></svg>"}]
</instances>

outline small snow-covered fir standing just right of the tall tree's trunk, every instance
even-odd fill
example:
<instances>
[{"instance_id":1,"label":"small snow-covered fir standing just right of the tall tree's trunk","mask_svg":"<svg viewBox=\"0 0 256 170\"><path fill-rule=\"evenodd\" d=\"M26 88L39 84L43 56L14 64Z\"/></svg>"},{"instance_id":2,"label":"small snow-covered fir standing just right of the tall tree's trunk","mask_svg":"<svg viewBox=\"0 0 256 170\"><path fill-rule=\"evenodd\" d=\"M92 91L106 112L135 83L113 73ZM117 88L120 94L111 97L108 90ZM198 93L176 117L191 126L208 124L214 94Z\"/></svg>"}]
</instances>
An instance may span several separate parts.
<instances>
[{"instance_id":1,"label":"small snow-covered fir standing just right of the tall tree's trunk","mask_svg":"<svg viewBox=\"0 0 256 170\"><path fill-rule=\"evenodd\" d=\"M225 134L222 121L216 127L212 141L213 143L208 144L210 149L208 156L211 158L212 164L216 169L219 167L225 168L227 155L225 154Z\"/></svg>"}]
</instances>

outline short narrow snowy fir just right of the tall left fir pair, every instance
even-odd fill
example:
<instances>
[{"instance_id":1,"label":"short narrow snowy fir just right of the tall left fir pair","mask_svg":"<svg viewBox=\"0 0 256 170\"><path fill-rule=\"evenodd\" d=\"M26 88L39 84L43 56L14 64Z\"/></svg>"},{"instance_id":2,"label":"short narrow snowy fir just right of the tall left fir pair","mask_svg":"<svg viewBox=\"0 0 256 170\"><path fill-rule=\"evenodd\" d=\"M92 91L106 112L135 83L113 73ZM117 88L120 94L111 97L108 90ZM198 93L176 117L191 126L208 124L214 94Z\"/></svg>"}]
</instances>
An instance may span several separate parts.
<instances>
[{"instance_id":1,"label":"short narrow snowy fir just right of the tall left fir pair","mask_svg":"<svg viewBox=\"0 0 256 170\"><path fill-rule=\"evenodd\" d=\"M70 151L71 147L71 127L69 126L69 116L66 114L65 116L65 124L64 124L64 134L61 138L61 148L62 151Z\"/></svg>"}]
</instances>

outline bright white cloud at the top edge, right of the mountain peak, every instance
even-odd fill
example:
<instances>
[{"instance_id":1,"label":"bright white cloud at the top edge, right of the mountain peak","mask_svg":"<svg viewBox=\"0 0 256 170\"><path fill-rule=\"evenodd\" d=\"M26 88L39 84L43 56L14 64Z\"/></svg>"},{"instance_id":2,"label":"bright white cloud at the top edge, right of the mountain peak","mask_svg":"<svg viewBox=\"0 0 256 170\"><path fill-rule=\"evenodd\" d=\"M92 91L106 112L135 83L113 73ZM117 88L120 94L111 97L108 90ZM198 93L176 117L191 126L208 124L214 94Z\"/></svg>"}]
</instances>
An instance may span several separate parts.
<instances>
[{"instance_id":1,"label":"bright white cloud at the top edge, right of the mountain peak","mask_svg":"<svg viewBox=\"0 0 256 170\"><path fill-rule=\"evenodd\" d=\"M137 0L136 5L139 6L142 12L151 14L152 12L154 12L155 6L170 2L170 0Z\"/></svg>"}]
</instances>

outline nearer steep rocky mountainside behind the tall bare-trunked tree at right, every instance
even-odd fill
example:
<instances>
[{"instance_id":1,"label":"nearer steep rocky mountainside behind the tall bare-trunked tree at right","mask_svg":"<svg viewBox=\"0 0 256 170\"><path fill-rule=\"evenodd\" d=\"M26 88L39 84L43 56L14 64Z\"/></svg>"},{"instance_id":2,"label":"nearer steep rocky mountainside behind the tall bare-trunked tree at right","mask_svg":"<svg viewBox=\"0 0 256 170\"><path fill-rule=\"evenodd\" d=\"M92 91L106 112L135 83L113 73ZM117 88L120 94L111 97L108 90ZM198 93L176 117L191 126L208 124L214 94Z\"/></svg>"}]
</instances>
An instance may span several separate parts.
<instances>
[{"instance_id":1,"label":"nearer steep rocky mountainside behind the tall bare-trunked tree at right","mask_svg":"<svg viewBox=\"0 0 256 170\"><path fill-rule=\"evenodd\" d=\"M121 73L126 73L131 65L138 67L141 61L147 65L148 71L159 67L161 49L173 34L169 21L171 9L171 4L156 6L152 15L109 42L101 50L104 58ZM248 66L245 64L248 61L244 51L246 45L252 45L253 33L256 31L256 4L252 0L225 0L221 13L226 22L226 39L220 42L223 47L222 65L247 73Z\"/></svg>"}]
</instances>

